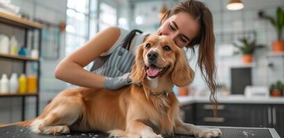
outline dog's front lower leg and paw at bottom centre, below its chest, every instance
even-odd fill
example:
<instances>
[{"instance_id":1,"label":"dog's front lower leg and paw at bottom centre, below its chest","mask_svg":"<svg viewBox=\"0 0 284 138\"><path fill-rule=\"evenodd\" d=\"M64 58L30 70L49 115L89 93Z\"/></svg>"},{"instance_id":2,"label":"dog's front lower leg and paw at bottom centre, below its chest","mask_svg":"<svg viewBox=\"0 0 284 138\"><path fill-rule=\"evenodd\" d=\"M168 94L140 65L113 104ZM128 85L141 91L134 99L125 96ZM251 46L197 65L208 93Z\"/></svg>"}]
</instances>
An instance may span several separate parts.
<instances>
[{"instance_id":1,"label":"dog's front lower leg and paw at bottom centre, below its chest","mask_svg":"<svg viewBox=\"0 0 284 138\"><path fill-rule=\"evenodd\" d=\"M133 120L128 122L126 131L130 132L131 134L138 134L139 137L142 138L162 138L161 135L157 135L155 132L153 132L152 128L146 126L140 120Z\"/></svg>"}]
</instances>

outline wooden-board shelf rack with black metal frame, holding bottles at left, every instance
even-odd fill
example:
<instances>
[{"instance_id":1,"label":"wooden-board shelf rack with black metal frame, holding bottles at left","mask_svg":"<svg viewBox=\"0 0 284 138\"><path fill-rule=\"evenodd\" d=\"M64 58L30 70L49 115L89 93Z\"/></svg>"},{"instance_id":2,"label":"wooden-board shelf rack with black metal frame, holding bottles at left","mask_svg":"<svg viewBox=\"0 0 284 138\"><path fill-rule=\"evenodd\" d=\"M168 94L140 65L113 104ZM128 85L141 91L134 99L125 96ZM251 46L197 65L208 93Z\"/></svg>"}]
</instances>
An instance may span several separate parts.
<instances>
[{"instance_id":1,"label":"wooden-board shelf rack with black metal frame, holding bottles at left","mask_svg":"<svg viewBox=\"0 0 284 138\"><path fill-rule=\"evenodd\" d=\"M26 47L26 42L28 41L29 37L28 37L28 32L29 31L38 31L39 34L33 34L33 37L37 37L38 41L38 47L39 47L39 53L40 53L40 49L41 49L41 43L42 43L42 39L41 39L41 30L42 28L44 28L44 25L42 23L37 23L35 21L30 21L28 19L24 19L22 17L18 17L17 15L13 15L13 14L7 14L6 12L0 12L0 25L6 25L9 26L10 28L8 28L9 30L11 30L12 28L18 28L20 30L24 30L24 47ZM5 26L4 26L5 28ZM14 32L17 33L17 32ZM35 41L33 41L34 43ZM9 59L9 60L8 60ZM22 55L9 55L9 54L3 54L0 53L0 60L19 60L22 61L23 66L23 73L27 73L26 71L26 65L27 65L27 61L36 61L37 64L39 65L37 68L37 77L40 78L40 57L37 59L28 57L28 56L22 56ZM1 65L2 66L2 65ZM10 67L12 68L12 66ZM8 70L10 71L10 70ZM4 70L5 72L5 70ZM7 70L6 70L7 72ZM22 73L21 72L21 73ZM19 72L17 72L19 73ZM39 95L40 95L40 79L37 79L37 88L38 91L36 93L26 93L26 94L11 94L11 93L7 93L7 94L0 94L0 98L6 98L6 97L20 97L22 98L22 121L26 120L26 97L35 97L35 116L37 116L39 114L39 107L40 107L40 99L39 99Z\"/></svg>"}]
</instances>

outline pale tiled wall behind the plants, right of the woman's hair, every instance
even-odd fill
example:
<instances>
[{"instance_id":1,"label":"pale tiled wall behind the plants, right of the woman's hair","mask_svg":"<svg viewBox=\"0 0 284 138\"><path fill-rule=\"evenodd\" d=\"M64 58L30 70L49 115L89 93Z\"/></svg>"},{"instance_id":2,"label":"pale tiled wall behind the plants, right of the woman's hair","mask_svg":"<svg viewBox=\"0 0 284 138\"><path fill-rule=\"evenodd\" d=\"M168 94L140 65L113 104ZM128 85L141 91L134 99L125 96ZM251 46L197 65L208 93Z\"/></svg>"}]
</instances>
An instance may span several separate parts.
<instances>
[{"instance_id":1,"label":"pale tiled wall behind the plants, right of the woman's hair","mask_svg":"<svg viewBox=\"0 0 284 138\"><path fill-rule=\"evenodd\" d=\"M224 3L224 1L219 1ZM283 68L284 56L268 56L267 52L272 49L272 41L276 39L276 30L273 28L269 21L259 19L258 11L263 10L267 14L276 16L276 7L281 6L284 8L284 1L255 1L255 6L246 7L246 1L244 1L245 8L243 10L228 11L212 10L214 17L215 33L220 32L256 32L257 43L264 44L266 46L263 50L257 50L253 55L253 85L267 86L270 83L278 79L284 81ZM269 3L270 2L270 3ZM223 36L224 37L224 36ZM240 38L240 37L239 37ZM235 38L237 39L237 38ZM233 39L233 40L235 40ZM227 39L228 40L228 39ZM231 43L231 39L226 41L219 35L216 35L216 48L222 48L224 43ZM268 68L269 61L276 62L275 68ZM228 88L231 86L230 68L235 65L242 65L241 55L233 56L219 56L217 55L218 64L218 76L221 83L226 84Z\"/></svg>"}]
</instances>

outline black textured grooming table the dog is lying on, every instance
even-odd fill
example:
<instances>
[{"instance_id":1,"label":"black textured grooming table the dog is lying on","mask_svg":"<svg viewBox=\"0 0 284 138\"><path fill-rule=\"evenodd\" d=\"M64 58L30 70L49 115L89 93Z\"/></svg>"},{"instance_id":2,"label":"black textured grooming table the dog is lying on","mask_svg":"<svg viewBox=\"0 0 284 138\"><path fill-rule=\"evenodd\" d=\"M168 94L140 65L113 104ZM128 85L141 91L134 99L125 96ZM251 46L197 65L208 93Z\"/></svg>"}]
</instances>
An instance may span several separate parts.
<instances>
[{"instance_id":1,"label":"black textured grooming table the dog is lying on","mask_svg":"<svg viewBox=\"0 0 284 138\"><path fill-rule=\"evenodd\" d=\"M212 128L212 126L210 126ZM233 128L233 127L215 127L220 128L223 132L222 137L226 138L280 138L274 128ZM22 137L22 138L97 138L108 137L108 134L103 132L71 132L67 135L42 135L30 132L28 128L19 126L6 126L0 128L0 137ZM165 138L190 138L194 136L174 135L163 136Z\"/></svg>"}]
</instances>

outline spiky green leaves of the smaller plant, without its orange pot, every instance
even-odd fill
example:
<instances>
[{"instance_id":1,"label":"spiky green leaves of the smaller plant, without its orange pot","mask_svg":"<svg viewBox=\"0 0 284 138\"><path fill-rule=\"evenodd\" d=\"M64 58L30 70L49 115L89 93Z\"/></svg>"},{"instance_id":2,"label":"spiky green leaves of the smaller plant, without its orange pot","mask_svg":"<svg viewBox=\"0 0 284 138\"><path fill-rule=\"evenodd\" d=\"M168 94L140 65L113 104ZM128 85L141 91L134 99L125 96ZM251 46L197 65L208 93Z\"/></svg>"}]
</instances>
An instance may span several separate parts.
<instances>
[{"instance_id":1,"label":"spiky green leaves of the smaller plant, without its orange pot","mask_svg":"<svg viewBox=\"0 0 284 138\"><path fill-rule=\"evenodd\" d=\"M256 39L253 39L253 41L249 41L247 38L242 38L238 40L240 43L233 43L233 46L235 46L239 51L235 52L235 54L242 53L242 55L252 55L253 52L257 48L265 48L265 46L256 44Z\"/></svg>"}]
</instances>

